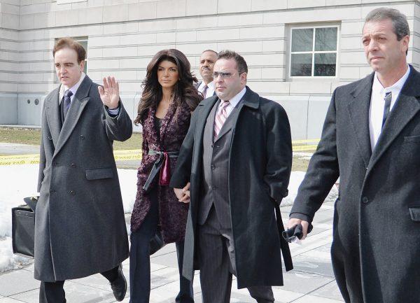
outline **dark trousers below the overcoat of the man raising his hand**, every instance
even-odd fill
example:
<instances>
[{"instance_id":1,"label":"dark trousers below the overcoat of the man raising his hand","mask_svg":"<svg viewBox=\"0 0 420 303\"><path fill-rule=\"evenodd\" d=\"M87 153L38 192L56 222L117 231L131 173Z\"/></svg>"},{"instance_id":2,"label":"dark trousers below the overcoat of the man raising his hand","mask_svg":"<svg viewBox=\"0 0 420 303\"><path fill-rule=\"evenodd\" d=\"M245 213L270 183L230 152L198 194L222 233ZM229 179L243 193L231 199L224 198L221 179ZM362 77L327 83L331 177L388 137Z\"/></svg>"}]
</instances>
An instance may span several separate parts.
<instances>
[{"instance_id":1,"label":"dark trousers below the overcoat of the man raising his hand","mask_svg":"<svg viewBox=\"0 0 420 303\"><path fill-rule=\"evenodd\" d=\"M118 277L118 267L115 267L107 272L102 272L104 276L111 283ZM66 293L64 292L64 281L44 282L41 281L41 288L39 288L39 303L65 303Z\"/></svg>"}]
</instances>

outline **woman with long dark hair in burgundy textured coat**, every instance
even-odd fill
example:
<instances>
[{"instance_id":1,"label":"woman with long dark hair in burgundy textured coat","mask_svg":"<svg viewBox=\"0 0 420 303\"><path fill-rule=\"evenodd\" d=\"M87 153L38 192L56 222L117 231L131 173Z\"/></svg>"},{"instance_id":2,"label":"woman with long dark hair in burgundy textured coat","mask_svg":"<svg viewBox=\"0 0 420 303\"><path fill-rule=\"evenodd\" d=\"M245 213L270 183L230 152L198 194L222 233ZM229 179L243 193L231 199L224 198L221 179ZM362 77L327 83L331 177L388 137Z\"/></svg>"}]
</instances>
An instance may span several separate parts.
<instances>
[{"instance_id":1,"label":"woman with long dark hair in burgundy textured coat","mask_svg":"<svg viewBox=\"0 0 420 303\"><path fill-rule=\"evenodd\" d=\"M179 202L169 188L169 179L188 132L191 113L202 100L193 86L195 82L190 62L179 50L161 50L147 66L134 120L143 127L143 157L131 219L130 303L149 302L149 243L158 231L165 244L176 244L180 278L176 302L194 302L193 283L182 276L188 204Z\"/></svg>"}]
</instances>

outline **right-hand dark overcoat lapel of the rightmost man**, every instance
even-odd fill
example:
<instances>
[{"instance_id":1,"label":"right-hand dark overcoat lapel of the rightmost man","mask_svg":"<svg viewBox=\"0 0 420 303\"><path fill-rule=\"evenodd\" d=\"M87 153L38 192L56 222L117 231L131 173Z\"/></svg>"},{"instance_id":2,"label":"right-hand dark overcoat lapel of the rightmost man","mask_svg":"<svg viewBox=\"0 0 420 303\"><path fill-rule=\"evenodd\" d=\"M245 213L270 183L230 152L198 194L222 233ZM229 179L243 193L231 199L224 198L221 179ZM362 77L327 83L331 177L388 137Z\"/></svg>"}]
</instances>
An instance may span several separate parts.
<instances>
[{"instance_id":1,"label":"right-hand dark overcoat lapel of the rightmost man","mask_svg":"<svg viewBox=\"0 0 420 303\"><path fill-rule=\"evenodd\" d=\"M400 134L408 122L414 118L414 115L420 111L419 99L417 99L420 96L420 76L411 66L410 68L410 75L407 81L405 81L405 85L402 87L398 99L386 119L384 128L373 150L369 170L372 169L386 149L391 146L391 143L397 138L398 134Z\"/></svg>"}]
</instances>

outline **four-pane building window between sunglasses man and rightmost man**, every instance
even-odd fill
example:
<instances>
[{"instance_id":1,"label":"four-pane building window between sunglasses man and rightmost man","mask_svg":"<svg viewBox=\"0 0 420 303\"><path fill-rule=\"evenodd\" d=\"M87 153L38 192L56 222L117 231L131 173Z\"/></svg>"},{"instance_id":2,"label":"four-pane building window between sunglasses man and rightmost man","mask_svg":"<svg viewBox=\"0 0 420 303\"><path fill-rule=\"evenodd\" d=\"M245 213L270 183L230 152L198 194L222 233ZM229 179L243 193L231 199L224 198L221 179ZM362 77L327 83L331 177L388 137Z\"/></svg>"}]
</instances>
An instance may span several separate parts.
<instances>
[{"instance_id":1,"label":"four-pane building window between sunglasses man and rightmost man","mask_svg":"<svg viewBox=\"0 0 420 303\"><path fill-rule=\"evenodd\" d=\"M290 77L335 77L338 27L291 29Z\"/></svg>"}]
</instances>

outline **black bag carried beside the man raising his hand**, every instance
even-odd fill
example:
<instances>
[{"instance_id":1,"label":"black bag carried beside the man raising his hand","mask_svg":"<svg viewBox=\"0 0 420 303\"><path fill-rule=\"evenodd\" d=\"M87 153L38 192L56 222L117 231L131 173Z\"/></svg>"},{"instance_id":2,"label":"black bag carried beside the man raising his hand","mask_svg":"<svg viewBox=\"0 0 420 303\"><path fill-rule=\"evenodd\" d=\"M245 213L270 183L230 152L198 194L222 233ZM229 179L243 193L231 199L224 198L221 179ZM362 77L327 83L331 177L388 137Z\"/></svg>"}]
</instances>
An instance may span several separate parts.
<instances>
[{"instance_id":1,"label":"black bag carried beside the man raising his hand","mask_svg":"<svg viewBox=\"0 0 420 303\"><path fill-rule=\"evenodd\" d=\"M34 258L35 209L38 197L24 199L27 205L12 209L13 253Z\"/></svg>"}]
</instances>

